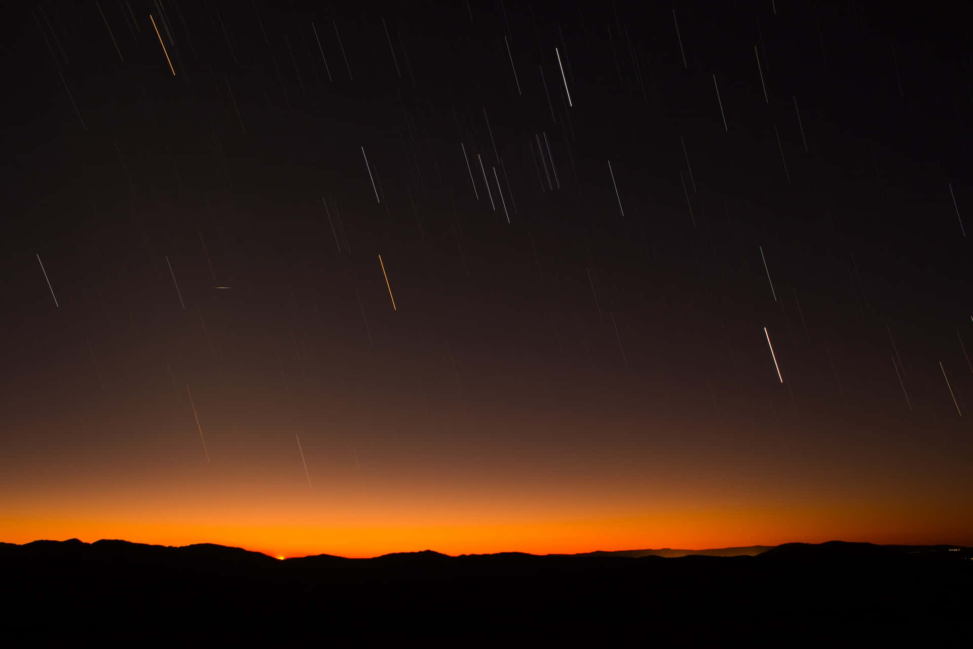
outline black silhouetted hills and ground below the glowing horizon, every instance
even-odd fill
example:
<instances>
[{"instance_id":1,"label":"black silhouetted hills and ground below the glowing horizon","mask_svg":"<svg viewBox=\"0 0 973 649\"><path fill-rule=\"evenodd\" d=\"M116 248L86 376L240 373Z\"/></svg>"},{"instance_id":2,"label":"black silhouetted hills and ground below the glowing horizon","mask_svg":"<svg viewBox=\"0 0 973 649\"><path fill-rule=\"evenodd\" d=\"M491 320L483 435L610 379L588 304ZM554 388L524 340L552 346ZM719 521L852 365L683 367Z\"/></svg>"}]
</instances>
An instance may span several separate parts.
<instances>
[{"instance_id":1,"label":"black silhouetted hills and ground below the glowing horizon","mask_svg":"<svg viewBox=\"0 0 973 649\"><path fill-rule=\"evenodd\" d=\"M0 544L0 637L144 644L175 635L194 646L298 634L342 646L379 637L596 646L758 636L835 646L850 641L847 630L872 641L903 631L928 638L973 616L973 549L952 548L834 541L738 557L277 560L215 545Z\"/></svg>"}]
</instances>

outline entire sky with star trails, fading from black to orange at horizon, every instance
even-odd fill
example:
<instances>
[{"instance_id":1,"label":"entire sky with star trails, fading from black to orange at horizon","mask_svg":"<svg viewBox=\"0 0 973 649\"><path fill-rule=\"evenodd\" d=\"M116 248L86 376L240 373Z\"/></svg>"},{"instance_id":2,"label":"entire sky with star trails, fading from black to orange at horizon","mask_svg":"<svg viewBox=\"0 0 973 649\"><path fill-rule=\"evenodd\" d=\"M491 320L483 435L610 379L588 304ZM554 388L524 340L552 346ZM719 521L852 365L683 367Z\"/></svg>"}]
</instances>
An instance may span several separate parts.
<instances>
[{"instance_id":1,"label":"entire sky with star trails, fading from black to orange at horizon","mask_svg":"<svg viewBox=\"0 0 973 649\"><path fill-rule=\"evenodd\" d=\"M973 45L897 11L9 9L0 540L973 545Z\"/></svg>"}]
</instances>

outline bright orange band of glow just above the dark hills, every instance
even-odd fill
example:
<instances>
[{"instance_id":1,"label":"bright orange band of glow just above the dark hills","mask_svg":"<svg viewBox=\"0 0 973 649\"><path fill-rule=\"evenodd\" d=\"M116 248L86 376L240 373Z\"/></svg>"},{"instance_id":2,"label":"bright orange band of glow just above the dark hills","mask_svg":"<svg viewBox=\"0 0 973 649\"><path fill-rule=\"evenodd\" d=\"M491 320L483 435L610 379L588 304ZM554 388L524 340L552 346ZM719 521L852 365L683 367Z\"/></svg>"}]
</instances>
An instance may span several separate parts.
<instances>
[{"instance_id":1,"label":"bright orange band of glow just above the dark hills","mask_svg":"<svg viewBox=\"0 0 973 649\"><path fill-rule=\"evenodd\" d=\"M952 508L951 508L952 509ZM945 516L944 516L945 515ZM463 520L461 516L420 519L406 517L381 522L345 521L309 525L298 523L294 512L281 513L266 523L245 516L213 516L198 512L186 520L116 516L81 518L2 517L4 541L27 543L37 539L102 538L135 543L185 546L215 543L261 552L277 559L328 554L348 558L377 557L394 552L434 550L447 555L525 552L535 555L575 554L595 550L677 548L703 550L743 546L774 546L793 541L830 540L888 544L969 544L970 517L963 523L956 511L929 511L919 517L894 507L846 506L686 511L653 515L591 518L517 516L513 520ZM485 517L484 517L485 518ZM249 519L249 520L248 520ZM451 520L450 520L451 519ZM480 519L480 520L477 520ZM917 529L922 529L917 532Z\"/></svg>"}]
</instances>

